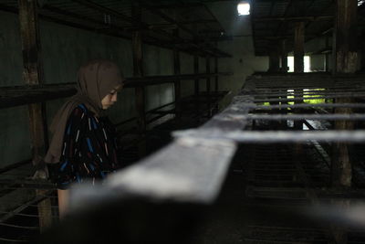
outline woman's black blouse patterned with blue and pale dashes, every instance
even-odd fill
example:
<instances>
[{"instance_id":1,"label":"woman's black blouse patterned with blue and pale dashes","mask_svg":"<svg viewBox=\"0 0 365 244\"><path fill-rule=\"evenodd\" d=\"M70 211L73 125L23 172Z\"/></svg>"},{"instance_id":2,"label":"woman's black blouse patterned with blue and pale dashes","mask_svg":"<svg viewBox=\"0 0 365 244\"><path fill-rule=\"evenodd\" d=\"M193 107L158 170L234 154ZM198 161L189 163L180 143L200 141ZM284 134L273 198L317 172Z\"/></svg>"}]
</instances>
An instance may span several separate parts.
<instances>
[{"instance_id":1,"label":"woman's black blouse patterned with blue and pale dashes","mask_svg":"<svg viewBox=\"0 0 365 244\"><path fill-rule=\"evenodd\" d=\"M51 166L51 179L59 189L86 178L94 184L120 168L116 151L113 124L79 104L68 117L60 162Z\"/></svg>"}]
</instances>

